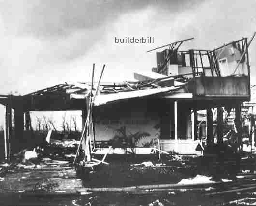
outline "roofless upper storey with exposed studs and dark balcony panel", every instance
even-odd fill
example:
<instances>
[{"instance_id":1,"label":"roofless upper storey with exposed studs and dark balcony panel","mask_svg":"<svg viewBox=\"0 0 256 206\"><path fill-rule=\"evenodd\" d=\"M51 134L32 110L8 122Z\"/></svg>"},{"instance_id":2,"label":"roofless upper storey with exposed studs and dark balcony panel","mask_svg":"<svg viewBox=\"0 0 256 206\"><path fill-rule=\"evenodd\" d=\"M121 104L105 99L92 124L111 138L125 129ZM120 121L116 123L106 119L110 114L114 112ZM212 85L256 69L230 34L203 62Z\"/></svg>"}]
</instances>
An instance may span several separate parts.
<instances>
[{"instance_id":1,"label":"roofless upper storey with exposed studs and dark balcony panel","mask_svg":"<svg viewBox=\"0 0 256 206\"><path fill-rule=\"evenodd\" d=\"M182 75L195 97L250 98L250 68L247 38L213 50L178 50L171 46L157 52L157 68L166 76Z\"/></svg>"}]
</instances>

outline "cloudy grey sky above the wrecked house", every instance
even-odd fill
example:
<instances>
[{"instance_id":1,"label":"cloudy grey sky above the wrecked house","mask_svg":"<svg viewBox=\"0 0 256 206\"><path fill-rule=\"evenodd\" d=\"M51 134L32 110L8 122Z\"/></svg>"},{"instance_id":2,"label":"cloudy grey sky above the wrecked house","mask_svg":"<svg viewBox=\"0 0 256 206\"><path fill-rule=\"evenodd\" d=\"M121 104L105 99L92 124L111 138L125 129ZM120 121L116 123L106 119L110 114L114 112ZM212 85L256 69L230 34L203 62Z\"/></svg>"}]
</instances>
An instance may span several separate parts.
<instances>
[{"instance_id":1,"label":"cloudy grey sky above the wrecked house","mask_svg":"<svg viewBox=\"0 0 256 206\"><path fill-rule=\"evenodd\" d=\"M256 30L256 0L0 0L0 94L26 94L58 83L133 79L156 66L163 44L213 49ZM154 43L115 43L154 37ZM256 84L256 40L249 48ZM0 124L3 107L0 107Z\"/></svg>"}]
</instances>

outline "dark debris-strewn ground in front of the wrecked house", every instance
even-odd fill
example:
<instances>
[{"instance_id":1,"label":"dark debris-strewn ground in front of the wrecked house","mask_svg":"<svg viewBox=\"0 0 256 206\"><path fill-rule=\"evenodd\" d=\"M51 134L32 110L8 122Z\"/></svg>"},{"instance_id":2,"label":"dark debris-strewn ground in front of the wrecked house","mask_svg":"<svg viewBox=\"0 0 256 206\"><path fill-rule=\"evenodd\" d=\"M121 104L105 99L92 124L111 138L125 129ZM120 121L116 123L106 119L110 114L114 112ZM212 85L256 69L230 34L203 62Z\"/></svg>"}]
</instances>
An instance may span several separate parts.
<instances>
[{"instance_id":1,"label":"dark debris-strewn ground in front of the wrecked house","mask_svg":"<svg viewBox=\"0 0 256 206\"><path fill-rule=\"evenodd\" d=\"M68 142L71 144L72 142ZM36 206L199 206L255 205L256 155L241 154L240 168L234 155L184 157L162 155L108 155L109 165L81 172L72 167L75 148L61 146L41 151L35 160L21 154L0 176L0 205ZM40 151L40 149L39 149ZM65 151L65 152L63 152ZM67 153L70 153L67 155ZM94 156L101 159L102 156ZM4 171L4 172L3 172ZM177 184L181 181L209 181L188 188L135 192L85 192L78 188L128 187ZM213 182L213 183L212 183ZM220 182L216 184L216 182ZM248 189L248 187L250 187ZM242 191L236 191L242 189ZM234 191L232 191L234 190ZM225 193L225 191L227 193ZM230 192L231 191L231 192ZM214 192L221 192L220 194ZM224 193L223 193L224 192ZM82 195L81 195L82 194Z\"/></svg>"}]
</instances>

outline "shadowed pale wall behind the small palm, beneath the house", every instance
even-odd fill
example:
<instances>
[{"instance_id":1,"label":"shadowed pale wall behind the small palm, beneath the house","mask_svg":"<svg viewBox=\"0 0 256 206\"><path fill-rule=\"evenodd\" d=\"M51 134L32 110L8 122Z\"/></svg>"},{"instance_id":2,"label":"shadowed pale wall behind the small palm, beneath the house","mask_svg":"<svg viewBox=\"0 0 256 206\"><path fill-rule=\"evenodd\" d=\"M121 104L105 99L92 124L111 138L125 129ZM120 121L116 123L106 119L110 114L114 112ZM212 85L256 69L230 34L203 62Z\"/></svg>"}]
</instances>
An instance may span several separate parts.
<instances>
[{"instance_id":1,"label":"shadowed pale wall behind the small palm, beneath the house","mask_svg":"<svg viewBox=\"0 0 256 206\"><path fill-rule=\"evenodd\" d=\"M110 140L116 130L122 126L126 127L127 133L147 132L149 137L143 138L138 146L157 138L159 129L155 128L159 123L157 111L149 111L143 104L128 107L129 104L119 107L118 105L101 108L94 112L96 141Z\"/></svg>"}]
</instances>

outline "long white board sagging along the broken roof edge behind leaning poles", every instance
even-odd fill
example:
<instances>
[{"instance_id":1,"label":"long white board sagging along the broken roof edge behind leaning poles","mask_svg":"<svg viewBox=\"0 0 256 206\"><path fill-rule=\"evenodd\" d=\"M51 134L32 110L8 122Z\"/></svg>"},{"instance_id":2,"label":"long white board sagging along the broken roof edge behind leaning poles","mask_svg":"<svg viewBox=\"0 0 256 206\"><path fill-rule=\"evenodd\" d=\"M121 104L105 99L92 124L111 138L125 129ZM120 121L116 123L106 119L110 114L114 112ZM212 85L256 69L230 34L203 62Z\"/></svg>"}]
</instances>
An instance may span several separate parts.
<instances>
[{"instance_id":1,"label":"long white board sagging along the broken roof edge behind leaning poles","mask_svg":"<svg viewBox=\"0 0 256 206\"><path fill-rule=\"evenodd\" d=\"M177 89L177 87L171 86L171 87L163 87L163 88L142 89L142 90L135 90L135 91L129 91L129 92L119 92L114 94L98 95L95 98L94 105L100 106L100 105L104 105L117 100L157 95L160 93L171 92L175 89ZM85 98L85 95L71 94L70 97L75 99L81 99L81 98Z\"/></svg>"}]
</instances>

